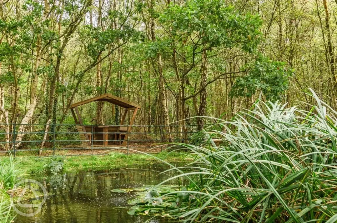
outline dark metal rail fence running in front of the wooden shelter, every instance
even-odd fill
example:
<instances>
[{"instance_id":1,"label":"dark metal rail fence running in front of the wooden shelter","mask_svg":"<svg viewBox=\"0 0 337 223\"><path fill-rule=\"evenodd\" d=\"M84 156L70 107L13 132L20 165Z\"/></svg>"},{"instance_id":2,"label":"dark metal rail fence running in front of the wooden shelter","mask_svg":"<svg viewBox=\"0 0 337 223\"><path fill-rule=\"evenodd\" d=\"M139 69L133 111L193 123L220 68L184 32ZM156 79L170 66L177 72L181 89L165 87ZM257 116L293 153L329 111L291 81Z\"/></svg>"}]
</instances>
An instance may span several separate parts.
<instances>
[{"instance_id":1,"label":"dark metal rail fence running in front of the wooden shelter","mask_svg":"<svg viewBox=\"0 0 337 223\"><path fill-rule=\"evenodd\" d=\"M206 124L204 127L209 126ZM133 125L128 133L126 145L107 145L97 146L100 141L116 142L120 139L99 140L94 139L94 134L118 134L120 132L95 132L95 125L79 125L79 124L49 124L49 130L46 132L47 124L25 124L25 131L19 132L21 124L0 124L0 155L11 152L13 156L36 156L40 153L43 156L51 155L103 155L106 151L118 150L129 154L136 151L142 152L159 152L171 146L168 143L188 142L193 140L199 133L197 125L185 126L145 126ZM9 127L10 131L5 132L4 127ZM91 127L91 139L83 139L80 137L76 126ZM129 127L128 125L124 125ZM112 126L113 127L113 126ZM116 127L116 126L115 126ZM5 141L6 134L9 134L9 141ZM24 134L20 141L17 141L18 134ZM83 134L83 133L82 133ZM171 136L171 137L170 137ZM44 139L45 138L45 139ZM171 138L171 140L170 140ZM88 147L83 147L83 142L88 143ZM5 145L8 149L5 149ZM44 144L43 146L41 146ZM35 152L34 152L35 151ZM78 151L78 152L75 152ZM40 152L40 153L39 153Z\"/></svg>"}]
</instances>

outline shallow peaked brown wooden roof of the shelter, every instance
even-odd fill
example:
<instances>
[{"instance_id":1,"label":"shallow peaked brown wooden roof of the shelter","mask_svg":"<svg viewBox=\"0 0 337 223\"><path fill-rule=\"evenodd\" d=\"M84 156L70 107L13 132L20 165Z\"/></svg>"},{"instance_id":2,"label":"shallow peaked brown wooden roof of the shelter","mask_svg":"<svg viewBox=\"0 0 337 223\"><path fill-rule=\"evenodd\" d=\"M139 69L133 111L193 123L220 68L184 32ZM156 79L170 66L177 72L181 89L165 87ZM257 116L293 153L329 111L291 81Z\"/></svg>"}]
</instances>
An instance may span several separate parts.
<instances>
[{"instance_id":1,"label":"shallow peaked brown wooden roof of the shelter","mask_svg":"<svg viewBox=\"0 0 337 223\"><path fill-rule=\"evenodd\" d=\"M101 95L98 95L96 97L92 97L90 99L86 99L86 100L83 100L83 101L80 101L80 102L76 102L76 103L70 105L70 108L74 108L74 107L84 105L84 104L87 104L87 103L90 103L90 102L110 102L112 104L121 106L123 108L128 108L128 109L141 108L139 105L134 104L133 102L129 102L127 100L124 100L120 97L117 97L117 96L114 96L114 95L108 94L108 93L101 94Z\"/></svg>"}]
</instances>

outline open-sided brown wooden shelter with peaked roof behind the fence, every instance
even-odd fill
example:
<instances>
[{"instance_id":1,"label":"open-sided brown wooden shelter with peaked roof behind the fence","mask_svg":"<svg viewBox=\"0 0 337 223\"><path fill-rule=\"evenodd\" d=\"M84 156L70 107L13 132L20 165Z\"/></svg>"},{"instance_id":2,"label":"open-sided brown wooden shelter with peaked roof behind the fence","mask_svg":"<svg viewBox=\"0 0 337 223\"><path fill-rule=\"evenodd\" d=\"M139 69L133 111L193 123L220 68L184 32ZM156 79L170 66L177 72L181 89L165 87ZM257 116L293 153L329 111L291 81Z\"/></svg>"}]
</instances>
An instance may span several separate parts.
<instances>
[{"instance_id":1,"label":"open-sided brown wooden shelter with peaked roof behind the fence","mask_svg":"<svg viewBox=\"0 0 337 223\"><path fill-rule=\"evenodd\" d=\"M84 126L83 121L78 110L78 106L90 103L90 102L109 102L125 108L122 120L119 126L107 126L107 125L96 125L96 126ZM91 143L93 146L109 146L109 145L122 145L125 146L127 143L128 134L131 131L131 126L133 124L134 118L136 116L137 110L141 108L139 105L124 100L120 97L116 97L112 94L101 94L90 99L76 102L70 105L70 110L72 116L74 117L76 128L80 133L80 138L82 141L82 147L90 147ZM124 125L126 114L129 110L133 110L132 118L129 120L128 125ZM76 117L77 116L77 117Z\"/></svg>"}]
</instances>

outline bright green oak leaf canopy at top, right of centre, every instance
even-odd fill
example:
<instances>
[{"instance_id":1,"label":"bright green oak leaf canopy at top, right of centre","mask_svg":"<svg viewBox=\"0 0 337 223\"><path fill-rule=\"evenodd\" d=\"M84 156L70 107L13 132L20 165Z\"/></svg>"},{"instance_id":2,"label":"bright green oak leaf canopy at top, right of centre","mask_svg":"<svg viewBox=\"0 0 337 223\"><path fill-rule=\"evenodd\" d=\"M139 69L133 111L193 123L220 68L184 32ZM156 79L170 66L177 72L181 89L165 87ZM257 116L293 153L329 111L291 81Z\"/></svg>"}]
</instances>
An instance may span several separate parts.
<instances>
[{"instance_id":1,"label":"bright green oak leaf canopy at top, right of centre","mask_svg":"<svg viewBox=\"0 0 337 223\"><path fill-rule=\"evenodd\" d=\"M222 0L191 0L183 6L171 5L159 20L171 28L173 38L192 39L206 47L241 47L249 52L261 40L258 15L236 11Z\"/></svg>"}]
</instances>

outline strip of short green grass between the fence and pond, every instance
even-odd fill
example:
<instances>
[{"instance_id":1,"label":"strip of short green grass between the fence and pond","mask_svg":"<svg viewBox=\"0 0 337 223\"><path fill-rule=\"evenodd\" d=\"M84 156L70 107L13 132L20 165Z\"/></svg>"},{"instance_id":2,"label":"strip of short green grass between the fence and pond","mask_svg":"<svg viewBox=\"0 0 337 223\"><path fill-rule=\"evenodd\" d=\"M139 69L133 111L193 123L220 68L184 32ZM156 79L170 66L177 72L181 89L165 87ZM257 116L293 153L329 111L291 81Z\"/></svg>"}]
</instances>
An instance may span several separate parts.
<instances>
[{"instance_id":1,"label":"strip of short green grass between the fence and pond","mask_svg":"<svg viewBox=\"0 0 337 223\"><path fill-rule=\"evenodd\" d=\"M1 157L0 162L8 162L9 157ZM14 162L20 175L45 174L50 171L51 166L57 166L58 162L63 171L77 171L83 169L113 169L121 166L148 165L162 163L187 162L191 160L187 153L161 152L159 154L120 154L112 152L104 156L73 156L73 157L16 157Z\"/></svg>"}]
</instances>

